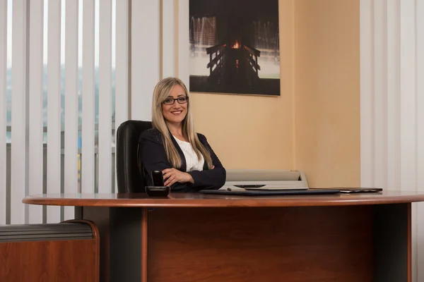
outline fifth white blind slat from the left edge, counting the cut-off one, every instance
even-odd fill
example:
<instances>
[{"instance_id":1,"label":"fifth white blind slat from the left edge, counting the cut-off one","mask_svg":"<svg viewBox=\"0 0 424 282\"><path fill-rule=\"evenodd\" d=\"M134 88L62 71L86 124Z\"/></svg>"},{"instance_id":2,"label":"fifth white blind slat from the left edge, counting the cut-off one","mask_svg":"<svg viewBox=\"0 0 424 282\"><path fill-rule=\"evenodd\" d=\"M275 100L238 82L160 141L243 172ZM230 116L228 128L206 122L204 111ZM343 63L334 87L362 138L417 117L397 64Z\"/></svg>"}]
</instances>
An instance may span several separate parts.
<instances>
[{"instance_id":1,"label":"fifth white blind slat from the left edge, counting the cut-off one","mask_svg":"<svg viewBox=\"0 0 424 282\"><path fill-rule=\"evenodd\" d=\"M78 190L78 1L66 1L64 191ZM64 208L64 219L73 209Z\"/></svg>"}]
</instances>

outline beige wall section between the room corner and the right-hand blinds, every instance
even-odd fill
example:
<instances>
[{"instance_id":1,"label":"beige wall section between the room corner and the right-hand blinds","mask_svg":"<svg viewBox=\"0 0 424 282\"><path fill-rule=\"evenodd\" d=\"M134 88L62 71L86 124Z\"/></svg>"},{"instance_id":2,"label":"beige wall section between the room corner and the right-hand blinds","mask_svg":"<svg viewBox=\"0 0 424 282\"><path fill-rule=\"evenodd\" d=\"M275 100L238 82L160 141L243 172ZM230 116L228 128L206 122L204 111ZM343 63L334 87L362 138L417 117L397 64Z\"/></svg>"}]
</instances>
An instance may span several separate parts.
<instances>
[{"instance_id":1,"label":"beige wall section between the room corner and the right-hand blinds","mask_svg":"<svg viewBox=\"0 0 424 282\"><path fill-rule=\"evenodd\" d=\"M295 0L295 168L360 185L359 0Z\"/></svg>"}]
</instances>

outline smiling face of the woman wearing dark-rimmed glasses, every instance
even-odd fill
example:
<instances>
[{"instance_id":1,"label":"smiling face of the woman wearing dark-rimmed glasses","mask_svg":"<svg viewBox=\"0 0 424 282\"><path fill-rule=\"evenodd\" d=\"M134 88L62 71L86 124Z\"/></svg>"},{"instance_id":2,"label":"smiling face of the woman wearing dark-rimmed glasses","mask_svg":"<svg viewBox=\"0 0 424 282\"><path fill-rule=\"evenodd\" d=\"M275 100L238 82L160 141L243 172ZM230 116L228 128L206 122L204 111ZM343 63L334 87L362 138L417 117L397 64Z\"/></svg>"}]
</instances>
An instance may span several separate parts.
<instances>
[{"instance_id":1,"label":"smiling face of the woman wearing dark-rimmed glasses","mask_svg":"<svg viewBox=\"0 0 424 282\"><path fill-rule=\"evenodd\" d=\"M163 118L168 123L181 123L187 115L187 100L184 88L180 85L175 85L162 103ZM179 99L179 101L175 100ZM182 104L180 104L182 103Z\"/></svg>"}]
</instances>

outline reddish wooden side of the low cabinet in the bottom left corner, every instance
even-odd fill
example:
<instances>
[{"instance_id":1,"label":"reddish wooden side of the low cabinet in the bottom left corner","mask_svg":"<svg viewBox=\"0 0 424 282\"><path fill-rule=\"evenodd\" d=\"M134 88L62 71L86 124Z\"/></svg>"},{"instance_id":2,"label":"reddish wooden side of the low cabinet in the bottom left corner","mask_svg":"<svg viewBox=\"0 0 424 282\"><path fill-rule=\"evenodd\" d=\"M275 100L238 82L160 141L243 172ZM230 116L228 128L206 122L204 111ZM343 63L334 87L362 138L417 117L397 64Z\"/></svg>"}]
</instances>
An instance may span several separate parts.
<instances>
[{"instance_id":1,"label":"reddish wooden side of the low cabinet in the bottom left corner","mask_svg":"<svg viewBox=\"0 0 424 282\"><path fill-rule=\"evenodd\" d=\"M0 281L98 281L96 240L0 243Z\"/></svg>"}]
</instances>

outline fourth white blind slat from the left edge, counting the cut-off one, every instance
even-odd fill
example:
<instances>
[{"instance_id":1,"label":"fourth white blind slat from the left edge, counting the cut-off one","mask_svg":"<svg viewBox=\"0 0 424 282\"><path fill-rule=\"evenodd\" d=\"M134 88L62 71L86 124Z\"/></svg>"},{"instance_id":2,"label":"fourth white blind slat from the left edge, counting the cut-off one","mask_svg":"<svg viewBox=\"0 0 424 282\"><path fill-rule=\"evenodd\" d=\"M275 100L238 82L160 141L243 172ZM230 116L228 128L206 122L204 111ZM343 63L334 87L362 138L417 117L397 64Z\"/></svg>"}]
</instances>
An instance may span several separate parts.
<instances>
[{"instance_id":1,"label":"fourth white blind slat from the left edge, counting the cut-off one","mask_svg":"<svg viewBox=\"0 0 424 282\"><path fill-rule=\"evenodd\" d=\"M47 192L61 188L61 0L49 0L47 54ZM59 207L47 207L47 223L60 221Z\"/></svg>"}]
</instances>

